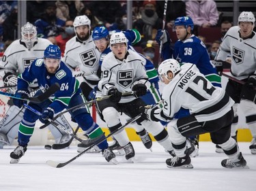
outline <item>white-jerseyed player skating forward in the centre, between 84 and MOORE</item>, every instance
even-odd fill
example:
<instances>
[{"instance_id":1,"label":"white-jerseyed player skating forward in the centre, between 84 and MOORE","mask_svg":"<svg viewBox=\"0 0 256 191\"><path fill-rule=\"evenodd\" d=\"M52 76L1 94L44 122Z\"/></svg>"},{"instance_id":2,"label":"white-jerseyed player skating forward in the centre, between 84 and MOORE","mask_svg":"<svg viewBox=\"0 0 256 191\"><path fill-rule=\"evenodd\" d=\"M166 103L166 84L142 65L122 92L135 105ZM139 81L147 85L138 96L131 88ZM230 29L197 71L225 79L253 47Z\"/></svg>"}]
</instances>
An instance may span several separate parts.
<instances>
[{"instance_id":1,"label":"white-jerseyed player skating forward in the centre, between 84 and MOORE","mask_svg":"<svg viewBox=\"0 0 256 191\"><path fill-rule=\"evenodd\" d=\"M122 123L119 120L119 112L124 112L130 118L139 115L139 107L145 103L139 97L147 92L150 86L143 66L142 57L132 50L128 50L128 42L124 33L111 35L110 46L112 52L107 54L102 62L102 76L98 84L96 97L111 95L96 103L102 119L106 122L109 131L113 132ZM122 93L134 91L133 95L122 97ZM165 150L171 151L171 141L165 128L159 123L150 122L139 118L137 123L151 133L156 141ZM124 128L115 135L119 145L124 148L126 160L132 160L135 155L132 143L130 143Z\"/></svg>"}]
</instances>

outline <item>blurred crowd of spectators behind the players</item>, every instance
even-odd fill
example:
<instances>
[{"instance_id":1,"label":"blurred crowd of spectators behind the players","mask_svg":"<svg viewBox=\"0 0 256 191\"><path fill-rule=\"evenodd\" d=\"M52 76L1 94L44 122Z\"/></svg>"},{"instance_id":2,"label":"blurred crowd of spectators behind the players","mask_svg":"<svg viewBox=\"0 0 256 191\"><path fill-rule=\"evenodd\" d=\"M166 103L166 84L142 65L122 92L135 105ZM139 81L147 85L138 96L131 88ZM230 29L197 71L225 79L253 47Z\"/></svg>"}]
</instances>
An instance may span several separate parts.
<instances>
[{"instance_id":1,"label":"blurred crowd of spectators behind the players","mask_svg":"<svg viewBox=\"0 0 256 191\"><path fill-rule=\"evenodd\" d=\"M38 37L49 39L63 52L66 41L75 35L72 21L76 16L85 14L91 20L91 31L102 25L109 31L126 30L126 3L126 1L27 1L27 22L35 25ZM135 46L158 52L158 45L154 43L154 39L156 31L162 29L164 7L165 1L132 1L132 28L141 33L141 41ZM17 9L17 1L0 1L1 52L18 38ZM232 26L231 19L221 16L213 0L168 1L165 29L174 31L174 20L179 16L190 16L193 19L195 35L199 35L201 28L218 27L223 37L227 29ZM208 37L202 38L208 39ZM172 43L174 44L176 40L174 39ZM222 39L218 40L221 42ZM204 42L208 46L209 54L214 54L212 52L215 51L211 51L213 41ZM151 55L154 60L154 54Z\"/></svg>"}]
</instances>

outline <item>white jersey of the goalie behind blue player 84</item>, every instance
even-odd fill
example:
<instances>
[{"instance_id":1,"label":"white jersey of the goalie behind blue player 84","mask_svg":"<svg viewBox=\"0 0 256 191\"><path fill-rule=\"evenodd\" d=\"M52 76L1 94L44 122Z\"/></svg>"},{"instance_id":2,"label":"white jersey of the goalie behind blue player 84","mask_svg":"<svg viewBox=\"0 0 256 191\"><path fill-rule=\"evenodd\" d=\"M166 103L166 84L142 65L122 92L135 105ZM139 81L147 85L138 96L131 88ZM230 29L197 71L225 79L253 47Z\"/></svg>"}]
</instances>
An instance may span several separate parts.
<instances>
[{"instance_id":1,"label":"white jersey of the goalie behind blue player 84","mask_svg":"<svg viewBox=\"0 0 256 191\"><path fill-rule=\"evenodd\" d=\"M0 67L5 70L5 73L8 71L11 73L23 73L23 71L33 63L35 58L44 57L44 50L50 44L52 43L48 41L48 39L38 38L35 46L33 46L31 50L28 50L25 47L25 43L20 41L20 39L13 41L5 50L3 58L0 61ZM4 74L2 73L1 75Z\"/></svg>"}]
</instances>

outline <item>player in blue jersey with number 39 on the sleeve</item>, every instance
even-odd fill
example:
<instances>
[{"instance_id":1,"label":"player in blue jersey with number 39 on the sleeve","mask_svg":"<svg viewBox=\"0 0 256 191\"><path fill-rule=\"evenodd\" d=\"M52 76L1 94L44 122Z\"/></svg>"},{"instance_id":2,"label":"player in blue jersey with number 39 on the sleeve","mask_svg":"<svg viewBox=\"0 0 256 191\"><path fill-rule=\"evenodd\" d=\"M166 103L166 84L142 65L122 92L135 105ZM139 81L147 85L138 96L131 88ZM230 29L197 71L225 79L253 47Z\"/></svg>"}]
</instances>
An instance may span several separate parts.
<instances>
[{"instance_id":1,"label":"player in blue jersey with number 39 on the sleeve","mask_svg":"<svg viewBox=\"0 0 256 191\"><path fill-rule=\"evenodd\" d=\"M174 27L178 40L175 42L173 50L171 50L171 46L169 45L170 41L167 41L167 31L164 33L158 31L158 35L156 36L158 43L160 43L160 38L164 37L162 38L164 40L162 49L162 57L164 60L173 57L179 63L193 63L197 65L199 71L203 73L214 86L221 87L221 77L217 74L216 67L210 61L205 44L203 44L198 37L193 35L193 20L188 16L178 17L174 22ZM175 115L175 118L182 118L182 116L187 115L188 111L186 109L180 109ZM194 140L198 145L198 140Z\"/></svg>"}]
</instances>

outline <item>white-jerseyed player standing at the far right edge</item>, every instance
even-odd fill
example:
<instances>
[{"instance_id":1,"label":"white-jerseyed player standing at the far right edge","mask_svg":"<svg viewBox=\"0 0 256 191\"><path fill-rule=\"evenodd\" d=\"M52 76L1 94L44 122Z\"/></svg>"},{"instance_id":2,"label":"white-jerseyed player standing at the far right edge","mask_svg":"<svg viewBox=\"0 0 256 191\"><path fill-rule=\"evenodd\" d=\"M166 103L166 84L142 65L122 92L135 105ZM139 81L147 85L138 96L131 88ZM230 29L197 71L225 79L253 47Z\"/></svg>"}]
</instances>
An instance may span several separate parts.
<instances>
[{"instance_id":1,"label":"white-jerseyed player standing at the far right edge","mask_svg":"<svg viewBox=\"0 0 256 191\"><path fill-rule=\"evenodd\" d=\"M251 130L253 140L249 146L251 153L256 154L256 33L255 16L252 12L242 12L238 17L238 26L227 31L217 52L215 60L227 59L231 55L231 76L246 82L242 85L229 79L226 91L235 101L233 106L235 118L232 123L231 136L236 137L238 129L238 104L246 117L246 124Z\"/></svg>"}]
</instances>

